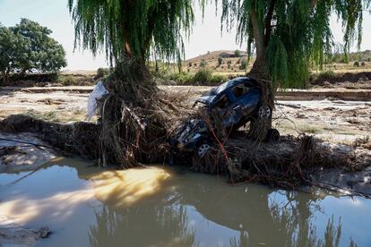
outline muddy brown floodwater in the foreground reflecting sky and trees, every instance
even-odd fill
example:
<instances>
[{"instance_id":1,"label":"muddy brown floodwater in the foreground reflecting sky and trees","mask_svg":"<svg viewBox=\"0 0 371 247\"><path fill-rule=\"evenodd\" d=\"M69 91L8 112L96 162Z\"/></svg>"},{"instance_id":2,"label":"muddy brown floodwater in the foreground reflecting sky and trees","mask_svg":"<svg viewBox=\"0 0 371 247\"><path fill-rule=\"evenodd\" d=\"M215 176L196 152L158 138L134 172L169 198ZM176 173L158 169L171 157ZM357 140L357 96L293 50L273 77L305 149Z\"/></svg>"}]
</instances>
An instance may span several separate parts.
<instances>
[{"instance_id":1,"label":"muddy brown floodwater in the foreground reflecting sky and trees","mask_svg":"<svg viewBox=\"0 0 371 247\"><path fill-rule=\"evenodd\" d=\"M1 174L0 215L49 226L39 246L371 246L371 200L91 165L56 158L31 175Z\"/></svg>"}]
</instances>

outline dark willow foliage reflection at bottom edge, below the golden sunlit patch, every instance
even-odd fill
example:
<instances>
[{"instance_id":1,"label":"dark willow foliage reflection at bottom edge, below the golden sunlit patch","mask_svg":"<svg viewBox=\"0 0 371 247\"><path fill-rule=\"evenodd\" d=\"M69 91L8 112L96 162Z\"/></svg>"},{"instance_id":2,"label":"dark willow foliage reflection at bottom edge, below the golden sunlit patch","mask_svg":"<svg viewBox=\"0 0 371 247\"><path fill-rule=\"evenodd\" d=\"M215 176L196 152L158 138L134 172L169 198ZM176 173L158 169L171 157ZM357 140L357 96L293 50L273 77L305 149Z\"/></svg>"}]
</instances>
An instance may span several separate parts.
<instances>
[{"instance_id":1,"label":"dark willow foliage reflection at bottom edge, below the golden sunlit patch","mask_svg":"<svg viewBox=\"0 0 371 247\"><path fill-rule=\"evenodd\" d=\"M193 246L186 208L140 206L135 209L104 207L90 227L92 246Z\"/></svg>"}]
</instances>

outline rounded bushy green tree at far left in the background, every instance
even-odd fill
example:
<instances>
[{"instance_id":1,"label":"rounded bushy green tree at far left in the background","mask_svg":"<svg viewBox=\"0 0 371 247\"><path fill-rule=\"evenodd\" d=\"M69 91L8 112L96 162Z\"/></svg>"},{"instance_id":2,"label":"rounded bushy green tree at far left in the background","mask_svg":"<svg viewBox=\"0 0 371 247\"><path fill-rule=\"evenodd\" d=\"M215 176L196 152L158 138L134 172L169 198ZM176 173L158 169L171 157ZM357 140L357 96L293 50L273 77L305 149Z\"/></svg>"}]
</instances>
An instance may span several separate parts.
<instances>
[{"instance_id":1,"label":"rounded bushy green tree at far left in the background","mask_svg":"<svg viewBox=\"0 0 371 247\"><path fill-rule=\"evenodd\" d=\"M0 71L57 72L65 67L65 49L50 38L51 30L22 19L15 27L0 27Z\"/></svg>"}]
</instances>

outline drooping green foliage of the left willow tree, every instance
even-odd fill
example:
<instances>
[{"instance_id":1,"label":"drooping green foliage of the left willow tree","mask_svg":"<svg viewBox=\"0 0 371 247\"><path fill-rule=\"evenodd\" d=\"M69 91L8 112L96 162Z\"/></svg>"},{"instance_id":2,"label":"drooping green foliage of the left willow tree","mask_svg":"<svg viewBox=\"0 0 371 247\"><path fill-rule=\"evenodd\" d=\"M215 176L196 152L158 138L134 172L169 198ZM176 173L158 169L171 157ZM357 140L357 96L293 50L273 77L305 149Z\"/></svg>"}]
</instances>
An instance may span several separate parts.
<instances>
[{"instance_id":1,"label":"drooping green foliage of the left willow tree","mask_svg":"<svg viewBox=\"0 0 371 247\"><path fill-rule=\"evenodd\" d=\"M178 61L184 55L182 33L188 35L194 22L191 0L69 0L68 5L75 45L81 43L93 55L103 48L111 62L151 54Z\"/></svg>"}]
</instances>

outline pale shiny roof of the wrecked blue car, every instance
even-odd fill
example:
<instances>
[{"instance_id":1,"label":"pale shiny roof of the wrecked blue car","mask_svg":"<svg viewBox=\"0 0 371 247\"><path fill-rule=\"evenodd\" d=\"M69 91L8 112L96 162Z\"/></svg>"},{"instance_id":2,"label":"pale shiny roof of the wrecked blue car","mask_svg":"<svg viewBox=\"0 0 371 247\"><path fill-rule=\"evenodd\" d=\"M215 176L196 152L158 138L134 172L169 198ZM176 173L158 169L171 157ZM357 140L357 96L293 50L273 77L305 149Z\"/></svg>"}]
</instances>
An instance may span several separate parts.
<instances>
[{"instance_id":1,"label":"pale shiny roof of the wrecked blue car","mask_svg":"<svg viewBox=\"0 0 371 247\"><path fill-rule=\"evenodd\" d=\"M206 105L210 105L214 101L214 99L217 98L220 94L240 84L244 85L247 84L248 86L251 87L257 86L257 82L249 77L237 77L235 79L220 84L220 86L218 87L215 87L207 91L206 93L203 94L202 97L196 100L196 103L200 102Z\"/></svg>"}]
</instances>

